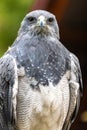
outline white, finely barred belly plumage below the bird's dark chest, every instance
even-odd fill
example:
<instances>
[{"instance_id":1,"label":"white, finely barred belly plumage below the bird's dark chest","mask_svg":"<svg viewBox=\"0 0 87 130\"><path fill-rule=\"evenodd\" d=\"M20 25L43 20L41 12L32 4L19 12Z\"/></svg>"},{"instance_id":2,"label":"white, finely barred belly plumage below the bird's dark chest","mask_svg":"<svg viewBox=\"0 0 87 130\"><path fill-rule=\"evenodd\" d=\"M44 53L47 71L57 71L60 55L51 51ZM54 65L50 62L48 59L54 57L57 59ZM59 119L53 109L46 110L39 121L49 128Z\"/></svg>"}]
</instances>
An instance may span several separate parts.
<instances>
[{"instance_id":1,"label":"white, finely barred belly plumage below the bird's dark chest","mask_svg":"<svg viewBox=\"0 0 87 130\"><path fill-rule=\"evenodd\" d=\"M69 106L68 75L56 86L39 85L40 92L30 87L35 79L19 77L18 130L62 130Z\"/></svg>"}]
</instances>

